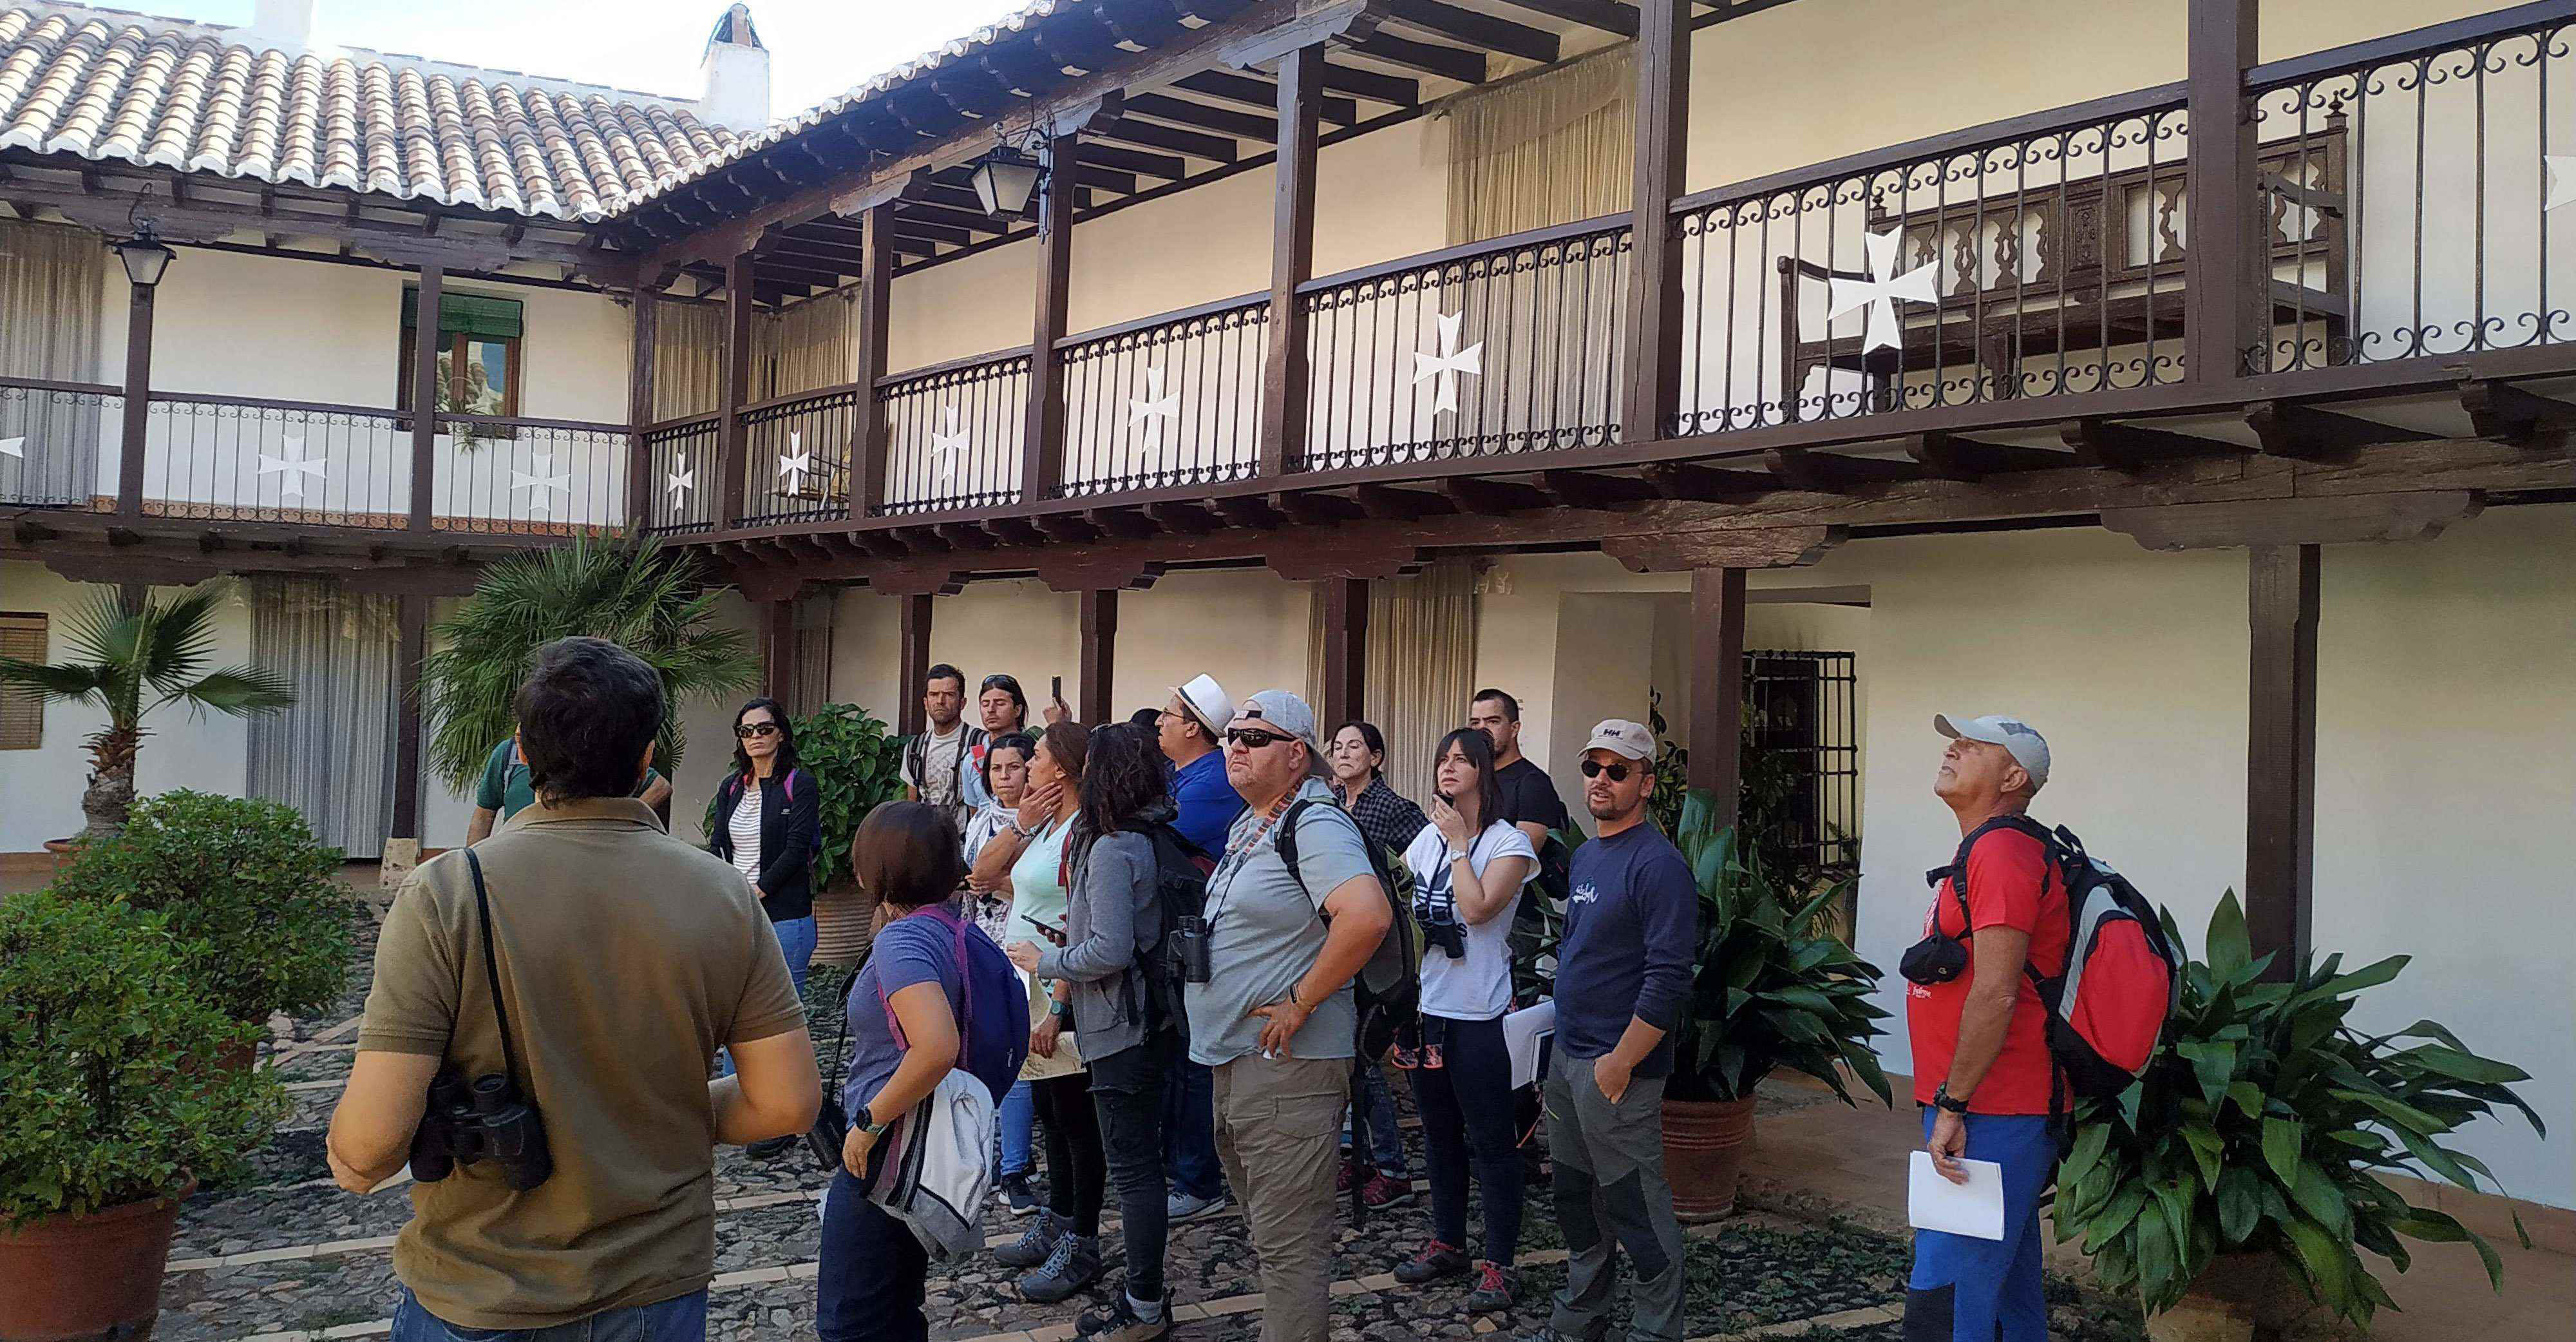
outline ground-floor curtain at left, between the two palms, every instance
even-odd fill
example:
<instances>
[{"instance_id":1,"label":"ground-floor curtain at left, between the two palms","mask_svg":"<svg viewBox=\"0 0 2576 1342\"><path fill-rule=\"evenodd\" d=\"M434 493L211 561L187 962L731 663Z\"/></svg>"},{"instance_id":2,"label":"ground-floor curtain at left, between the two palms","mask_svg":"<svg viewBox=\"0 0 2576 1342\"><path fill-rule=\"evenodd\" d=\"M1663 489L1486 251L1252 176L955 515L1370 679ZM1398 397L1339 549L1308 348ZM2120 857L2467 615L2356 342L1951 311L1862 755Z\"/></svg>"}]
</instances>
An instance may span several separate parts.
<instances>
[{"instance_id":1,"label":"ground-floor curtain at left, between the two palms","mask_svg":"<svg viewBox=\"0 0 2576 1342\"><path fill-rule=\"evenodd\" d=\"M250 659L289 677L296 703L250 719L250 796L304 811L355 860L394 822L394 657L399 603L327 577L252 577Z\"/></svg>"}]
</instances>

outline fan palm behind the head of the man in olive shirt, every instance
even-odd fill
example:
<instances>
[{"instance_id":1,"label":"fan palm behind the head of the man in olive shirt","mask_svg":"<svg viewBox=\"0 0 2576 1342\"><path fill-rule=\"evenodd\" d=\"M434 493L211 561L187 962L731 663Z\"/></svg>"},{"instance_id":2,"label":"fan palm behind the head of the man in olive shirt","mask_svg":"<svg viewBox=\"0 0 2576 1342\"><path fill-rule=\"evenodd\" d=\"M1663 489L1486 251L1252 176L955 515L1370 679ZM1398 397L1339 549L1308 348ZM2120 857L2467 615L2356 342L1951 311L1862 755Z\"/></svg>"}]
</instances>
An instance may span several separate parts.
<instances>
[{"instance_id":1,"label":"fan palm behind the head of the man in olive shirt","mask_svg":"<svg viewBox=\"0 0 2576 1342\"><path fill-rule=\"evenodd\" d=\"M574 634L608 639L662 675L667 714L654 760L665 775L677 770L680 703L760 680L742 631L716 623L724 592L696 556L649 538L585 536L484 569L474 595L438 623L438 652L420 662L430 773L469 791L492 744L518 732L513 701L536 649Z\"/></svg>"}]
</instances>

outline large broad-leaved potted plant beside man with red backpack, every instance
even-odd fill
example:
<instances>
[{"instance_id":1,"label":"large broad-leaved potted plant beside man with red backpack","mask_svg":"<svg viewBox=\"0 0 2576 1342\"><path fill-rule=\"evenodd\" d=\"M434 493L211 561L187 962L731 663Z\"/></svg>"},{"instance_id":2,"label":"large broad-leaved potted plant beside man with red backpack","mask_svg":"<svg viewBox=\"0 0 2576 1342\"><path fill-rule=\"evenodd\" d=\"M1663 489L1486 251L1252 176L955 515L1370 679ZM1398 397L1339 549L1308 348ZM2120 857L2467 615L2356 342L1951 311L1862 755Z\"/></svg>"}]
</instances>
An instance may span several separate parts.
<instances>
[{"instance_id":1,"label":"large broad-leaved potted plant beside man with red backpack","mask_svg":"<svg viewBox=\"0 0 2576 1342\"><path fill-rule=\"evenodd\" d=\"M2182 945L2172 914L2164 932ZM2543 1131L2512 1092L2530 1077L2432 1020L2352 1028L2354 994L2396 979L2406 956L2349 974L2342 956L2306 956L2290 979L2264 981L2272 956L2251 956L2233 891L2202 956L2146 1077L2079 1108L2058 1239L2084 1242L2102 1285L2136 1288L2156 1337L2277 1337L2293 1321L2282 1306L2308 1303L2370 1324L2391 1301L2362 1249L2403 1272L2403 1239L2468 1242L2501 1288L2483 1239L2378 1175L2494 1182L2439 1139L2499 1105Z\"/></svg>"}]
</instances>

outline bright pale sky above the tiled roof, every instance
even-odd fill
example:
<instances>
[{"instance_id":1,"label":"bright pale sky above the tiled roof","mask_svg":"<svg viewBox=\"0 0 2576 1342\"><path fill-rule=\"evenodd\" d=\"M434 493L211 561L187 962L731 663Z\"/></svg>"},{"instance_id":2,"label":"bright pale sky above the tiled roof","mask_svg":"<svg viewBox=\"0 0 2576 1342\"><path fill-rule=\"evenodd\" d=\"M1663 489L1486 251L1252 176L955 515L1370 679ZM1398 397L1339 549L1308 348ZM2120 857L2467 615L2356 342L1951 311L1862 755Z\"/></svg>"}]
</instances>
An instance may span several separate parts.
<instances>
[{"instance_id":1,"label":"bright pale sky above the tiled roof","mask_svg":"<svg viewBox=\"0 0 2576 1342\"><path fill-rule=\"evenodd\" d=\"M250 23L252 0L103 0ZM698 95L698 54L732 0L319 0L314 41ZM770 116L793 116L1028 0L747 0L770 49Z\"/></svg>"}]
</instances>

